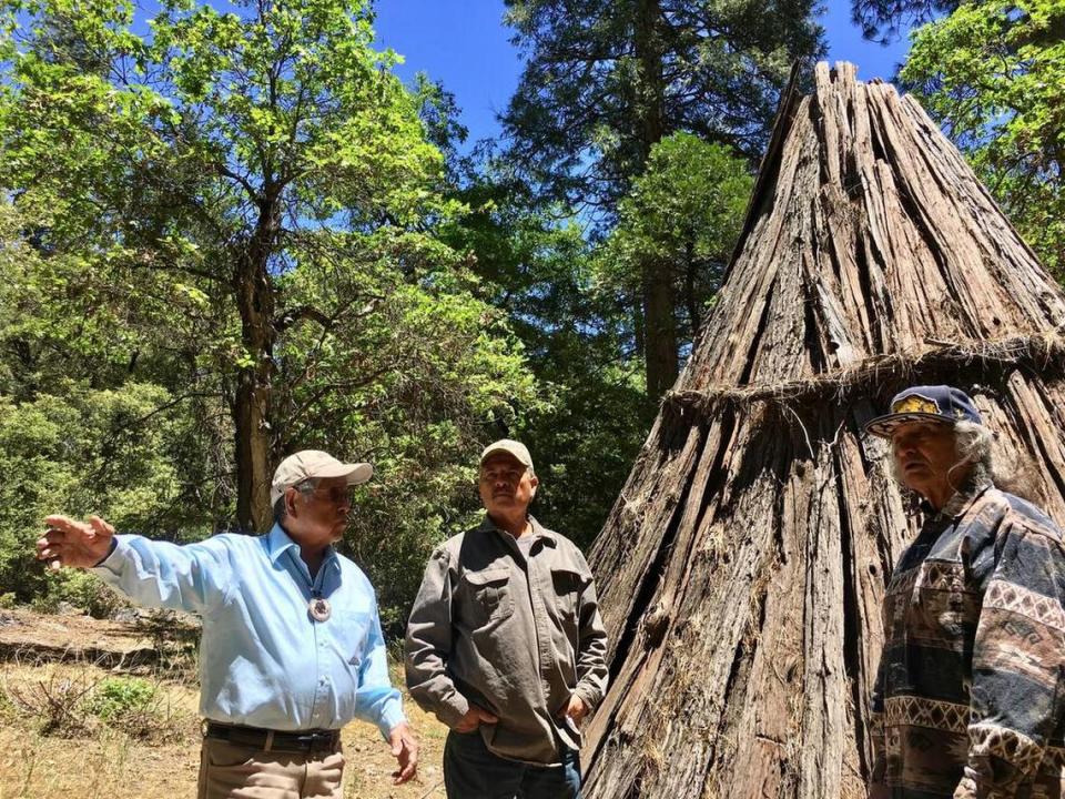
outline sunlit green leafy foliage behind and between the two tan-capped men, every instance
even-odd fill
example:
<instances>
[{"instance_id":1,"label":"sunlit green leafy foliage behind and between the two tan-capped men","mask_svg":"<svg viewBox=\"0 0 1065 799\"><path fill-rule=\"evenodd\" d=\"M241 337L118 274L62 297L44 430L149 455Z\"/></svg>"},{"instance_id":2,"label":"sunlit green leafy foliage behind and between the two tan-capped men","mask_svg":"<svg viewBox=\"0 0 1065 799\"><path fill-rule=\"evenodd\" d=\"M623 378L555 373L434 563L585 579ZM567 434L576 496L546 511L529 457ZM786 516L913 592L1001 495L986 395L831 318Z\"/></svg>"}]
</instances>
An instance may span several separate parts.
<instances>
[{"instance_id":1,"label":"sunlit green leafy foliage behind and between the two tan-capped men","mask_svg":"<svg viewBox=\"0 0 1065 799\"><path fill-rule=\"evenodd\" d=\"M294 377L278 419L304 446L373 462L347 540L386 623L405 623L433 547L475 519L480 447L498 421L541 400L504 315L471 295L476 280L458 264L416 280L348 267L343 280L363 301L349 313L337 306L336 274L305 263L286 279L294 299L337 324L286 337L280 367Z\"/></svg>"}]
</instances>

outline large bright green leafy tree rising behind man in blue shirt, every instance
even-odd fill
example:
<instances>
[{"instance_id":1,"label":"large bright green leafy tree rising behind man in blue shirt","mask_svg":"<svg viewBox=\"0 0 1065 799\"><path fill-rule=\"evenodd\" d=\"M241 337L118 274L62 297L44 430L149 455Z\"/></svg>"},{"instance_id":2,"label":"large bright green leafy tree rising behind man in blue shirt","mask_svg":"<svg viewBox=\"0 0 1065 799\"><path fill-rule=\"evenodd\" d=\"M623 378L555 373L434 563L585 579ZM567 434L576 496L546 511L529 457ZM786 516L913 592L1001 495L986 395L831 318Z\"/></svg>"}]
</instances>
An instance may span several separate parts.
<instances>
[{"instance_id":1,"label":"large bright green leafy tree rising behind man in blue shirt","mask_svg":"<svg viewBox=\"0 0 1065 799\"><path fill-rule=\"evenodd\" d=\"M250 486L270 475L245 447L224 457L220 442L239 436L263 459L298 446L271 433L272 406L286 404L274 394L291 377L275 370L275 348L294 326L344 321L290 300L285 276L307 261L341 277L448 269L429 231L459 209L439 192L443 156L419 117L427 92L408 92L394 53L371 47L362 2L241 13L166 2L148 37L128 6L8 9L0 185L33 220L36 245L78 266L49 330L63 336L82 312L90 335L70 331L67 346L77 338L195 406L214 442L209 473L236 478L212 516L222 520L235 489L248 523ZM337 280L329 294L361 307L349 287ZM106 333L94 336L99 315Z\"/></svg>"}]
</instances>

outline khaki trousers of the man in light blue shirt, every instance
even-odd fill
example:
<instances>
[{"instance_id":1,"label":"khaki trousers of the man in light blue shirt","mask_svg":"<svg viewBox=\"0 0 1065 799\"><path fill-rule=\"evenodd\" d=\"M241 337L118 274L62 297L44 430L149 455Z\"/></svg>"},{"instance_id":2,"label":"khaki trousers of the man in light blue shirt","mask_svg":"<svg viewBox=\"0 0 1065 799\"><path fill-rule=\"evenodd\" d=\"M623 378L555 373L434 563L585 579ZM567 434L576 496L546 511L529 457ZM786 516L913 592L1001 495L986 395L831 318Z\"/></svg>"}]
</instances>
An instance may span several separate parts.
<instances>
[{"instance_id":1,"label":"khaki trousers of the man in light blue shirt","mask_svg":"<svg viewBox=\"0 0 1065 799\"><path fill-rule=\"evenodd\" d=\"M263 751L204 738L199 799L342 799L344 755Z\"/></svg>"}]
</instances>

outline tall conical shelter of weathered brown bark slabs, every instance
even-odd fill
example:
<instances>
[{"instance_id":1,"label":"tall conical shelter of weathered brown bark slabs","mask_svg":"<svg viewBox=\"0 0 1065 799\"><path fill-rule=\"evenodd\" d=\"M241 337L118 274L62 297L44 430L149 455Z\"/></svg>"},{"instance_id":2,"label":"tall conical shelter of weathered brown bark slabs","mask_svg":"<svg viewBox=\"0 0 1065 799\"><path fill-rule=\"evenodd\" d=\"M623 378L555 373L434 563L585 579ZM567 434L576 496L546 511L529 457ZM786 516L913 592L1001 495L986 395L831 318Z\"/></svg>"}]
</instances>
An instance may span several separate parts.
<instances>
[{"instance_id":1,"label":"tall conical shelter of weathered brown bark slabs","mask_svg":"<svg viewBox=\"0 0 1065 799\"><path fill-rule=\"evenodd\" d=\"M913 99L845 63L789 90L717 307L590 552L612 681L586 796L864 797L881 599L919 517L862 425L906 385L957 385L1065 522L1063 323Z\"/></svg>"}]
</instances>

